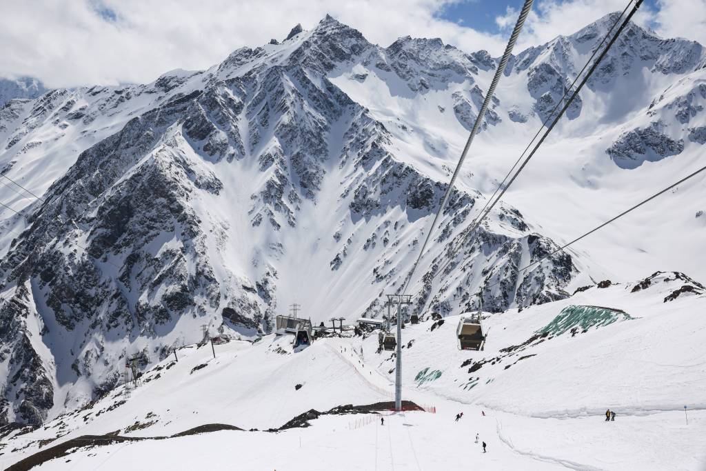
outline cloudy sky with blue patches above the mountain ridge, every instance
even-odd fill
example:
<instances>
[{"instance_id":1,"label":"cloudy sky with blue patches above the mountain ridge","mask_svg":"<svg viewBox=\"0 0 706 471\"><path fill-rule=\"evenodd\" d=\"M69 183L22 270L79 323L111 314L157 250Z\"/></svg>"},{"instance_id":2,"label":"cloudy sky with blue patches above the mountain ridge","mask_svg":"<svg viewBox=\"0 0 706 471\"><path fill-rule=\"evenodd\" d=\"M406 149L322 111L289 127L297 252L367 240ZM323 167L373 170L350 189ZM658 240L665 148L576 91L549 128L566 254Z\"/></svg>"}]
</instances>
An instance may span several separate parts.
<instances>
[{"instance_id":1,"label":"cloudy sky with blue patches above the mountain ridge","mask_svg":"<svg viewBox=\"0 0 706 471\"><path fill-rule=\"evenodd\" d=\"M149 83L174 68L217 64L234 49L282 40L327 13L388 46L441 37L502 54L522 0L0 0L0 76L49 87ZM627 0L535 0L520 52L567 35ZM688 14L685 14L688 13ZM706 0L645 0L635 16L663 37L706 44Z\"/></svg>"}]
</instances>

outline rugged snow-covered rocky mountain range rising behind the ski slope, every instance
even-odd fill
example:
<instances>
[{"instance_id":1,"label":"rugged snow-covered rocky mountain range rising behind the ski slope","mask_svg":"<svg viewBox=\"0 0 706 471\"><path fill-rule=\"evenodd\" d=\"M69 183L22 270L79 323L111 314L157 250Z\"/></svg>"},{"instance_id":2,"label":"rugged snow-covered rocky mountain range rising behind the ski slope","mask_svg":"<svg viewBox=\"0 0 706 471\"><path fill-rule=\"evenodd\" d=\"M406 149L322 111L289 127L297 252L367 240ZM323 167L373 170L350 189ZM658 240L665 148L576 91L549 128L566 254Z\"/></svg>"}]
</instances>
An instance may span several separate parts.
<instances>
[{"instance_id":1,"label":"rugged snow-covered rocky mountain range rising behind the ski slope","mask_svg":"<svg viewBox=\"0 0 706 471\"><path fill-rule=\"evenodd\" d=\"M650 240L638 225L517 272L580 232L586 213L598 222L623 207L606 201L633 201L695 165L704 51L636 25L547 142L551 170L528 167L436 273L615 18L513 58L412 280L414 309L457 314L479 291L487 311L525 308L622 273L620 263L706 274L688 270L706 239L699 193L669 203L692 210L671 223L688 229L684 253L670 254L679 266L652 266L664 258L642 254L664 247L666 232ZM202 325L253 337L291 302L317 322L380 314L383 294L406 281L496 64L438 39L380 47L327 16L206 71L9 101L0 421L39 424L92 400L126 357L154 364ZM621 261L606 263L616 258L606 250Z\"/></svg>"}]
</instances>

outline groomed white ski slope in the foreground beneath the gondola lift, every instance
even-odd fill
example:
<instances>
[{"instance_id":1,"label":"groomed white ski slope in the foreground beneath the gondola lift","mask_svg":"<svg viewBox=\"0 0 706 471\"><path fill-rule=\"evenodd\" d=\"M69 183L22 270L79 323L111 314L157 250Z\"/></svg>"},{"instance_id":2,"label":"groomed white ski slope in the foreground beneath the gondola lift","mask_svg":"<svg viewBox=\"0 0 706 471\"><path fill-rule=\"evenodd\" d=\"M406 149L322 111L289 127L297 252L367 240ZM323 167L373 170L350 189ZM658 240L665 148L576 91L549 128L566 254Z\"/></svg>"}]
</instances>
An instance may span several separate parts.
<instances>
[{"instance_id":1,"label":"groomed white ski slope in the foreground beneath the gondola lift","mask_svg":"<svg viewBox=\"0 0 706 471\"><path fill-rule=\"evenodd\" d=\"M0 467L112 433L144 440L76 446L32 469L702 470L706 297L697 286L665 302L693 283L674 273L648 280L491 314L482 352L457 350L458 316L433 329L431 320L408 325L403 398L436 412L321 415L311 427L264 431L311 409L389 401L394 391L393 352L376 352L376 333L321 338L298 352L291 337L268 335L215 345L215 358L209 344L183 347L178 362L172 355L145 371L129 396L119 386L36 430L0 431ZM527 342L558 325L568 306L584 305L626 315ZM615 422L604 422L606 408ZM154 439L206 424L243 430ZM40 439L56 436L40 448Z\"/></svg>"}]
</instances>

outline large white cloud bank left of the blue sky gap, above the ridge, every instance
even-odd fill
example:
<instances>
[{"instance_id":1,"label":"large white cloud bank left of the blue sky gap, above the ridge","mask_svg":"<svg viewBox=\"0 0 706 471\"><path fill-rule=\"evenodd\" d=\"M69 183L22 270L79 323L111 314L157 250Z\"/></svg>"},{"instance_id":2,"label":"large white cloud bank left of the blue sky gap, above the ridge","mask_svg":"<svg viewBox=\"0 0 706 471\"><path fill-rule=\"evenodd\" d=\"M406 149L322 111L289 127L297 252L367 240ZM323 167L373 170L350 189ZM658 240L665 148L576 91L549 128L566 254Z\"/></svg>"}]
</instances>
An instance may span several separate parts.
<instances>
[{"instance_id":1,"label":"large white cloud bank left of the blue sky gap, above the ridge","mask_svg":"<svg viewBox=\"0 0 706 471\"><path fill-rule=\"evenodd\" d=\"M500 38L435 18L450 0L16 1L3 7L0 74L49 86L148 82L173 68L206 68L242 46L282 40L326 13L387 46L402 35L469 49ZM100 13L104 13L101 16Z\"/></svg>"}]
</instances>

